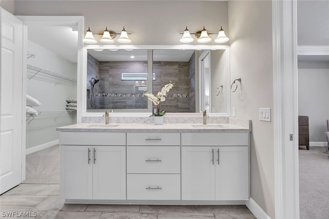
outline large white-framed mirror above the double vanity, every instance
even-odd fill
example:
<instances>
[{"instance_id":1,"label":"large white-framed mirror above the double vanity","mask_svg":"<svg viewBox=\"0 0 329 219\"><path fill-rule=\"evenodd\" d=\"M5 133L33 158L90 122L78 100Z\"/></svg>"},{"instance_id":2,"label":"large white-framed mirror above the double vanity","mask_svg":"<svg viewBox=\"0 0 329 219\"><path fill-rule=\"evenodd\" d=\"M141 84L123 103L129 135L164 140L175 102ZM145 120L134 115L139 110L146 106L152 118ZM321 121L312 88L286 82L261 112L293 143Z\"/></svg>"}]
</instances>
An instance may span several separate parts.
<instances>
[{"instance_id":1,"label":"large white-framed mirror above the double vanity","mask_svg":"<svg viewBox=\"0 0 329 219\"><path fill-rule=\"evenodd\" d=\"M161 102L168 114L229 115L229 47L195 47L84 47L83 116L112 109L150 115L154 105L143 93L156 94L169 81L175 85Z\"/></svg>"}]
</instances>

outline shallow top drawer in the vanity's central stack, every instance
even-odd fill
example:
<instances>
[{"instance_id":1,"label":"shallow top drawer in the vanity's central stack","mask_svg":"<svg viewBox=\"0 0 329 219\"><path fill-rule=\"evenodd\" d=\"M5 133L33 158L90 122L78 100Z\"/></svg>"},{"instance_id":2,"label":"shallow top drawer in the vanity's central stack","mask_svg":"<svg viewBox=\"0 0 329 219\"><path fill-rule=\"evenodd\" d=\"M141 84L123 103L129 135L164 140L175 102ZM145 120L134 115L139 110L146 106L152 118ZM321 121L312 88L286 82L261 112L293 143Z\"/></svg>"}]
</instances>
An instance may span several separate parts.
<instances>
[{"instance_id":1,"label":"shallow top drawer in the vanity's central stack","mask_svg":"<svg viewBox=\"0 0 329 219\"><path fill-rule=\"evenodd\" d=\"M127 133L127 145L180 145L179 133Z\"/></svg>"}]
</instances>

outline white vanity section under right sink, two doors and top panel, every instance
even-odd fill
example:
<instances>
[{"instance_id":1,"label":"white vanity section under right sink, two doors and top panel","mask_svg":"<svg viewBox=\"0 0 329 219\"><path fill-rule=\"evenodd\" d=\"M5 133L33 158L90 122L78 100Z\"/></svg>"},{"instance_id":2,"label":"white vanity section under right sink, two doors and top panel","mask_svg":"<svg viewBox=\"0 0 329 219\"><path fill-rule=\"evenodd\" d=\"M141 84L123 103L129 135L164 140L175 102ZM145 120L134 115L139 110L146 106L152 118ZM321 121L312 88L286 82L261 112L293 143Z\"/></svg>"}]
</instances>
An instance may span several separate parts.
<instances>
[{"instance_id":1,"label":"white vanity section under right sink, two doors and top panel","mask_svg":"<svg viewBox=\"0 0 329 219\"><path fill-rule=\"evenodd\" d=\"M181 199L247 200L248 136L248 133L182 133Z\"/></svg>"}]
</instances>

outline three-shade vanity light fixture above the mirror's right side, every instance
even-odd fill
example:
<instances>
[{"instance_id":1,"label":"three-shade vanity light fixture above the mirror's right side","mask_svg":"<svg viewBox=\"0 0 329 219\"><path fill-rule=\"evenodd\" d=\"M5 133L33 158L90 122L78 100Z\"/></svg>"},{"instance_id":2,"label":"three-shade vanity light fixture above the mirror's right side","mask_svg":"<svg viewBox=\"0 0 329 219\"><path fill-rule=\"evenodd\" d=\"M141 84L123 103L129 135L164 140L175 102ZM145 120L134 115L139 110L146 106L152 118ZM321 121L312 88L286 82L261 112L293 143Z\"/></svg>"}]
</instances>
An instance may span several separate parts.
<instances>
[{"instance_id":1,"label":"three-shade vanity light fixture above the mirror's right side","mask_svg":"<svg viewBox=\"0 0 329 219\"><path fill-rule=\"evenodd\" d=\"M183 34L183 36L179 40L181 43L193 42L194 39L192 38L191 34L195 34L198 43L208 43L211 41L209 34L217 34L217 33L208 33L207 30L205 29L205 26L204 29L201 31L198 31L196 33L190 33L190 31L187 29L186 26L184 33L180 33L180 34ZM227 41L229 41L229 38L225 35L225 32L221 26L220 31L218 31L217 38L215 39L215 43L225 43Z\"/></svg>"}]
</instances>

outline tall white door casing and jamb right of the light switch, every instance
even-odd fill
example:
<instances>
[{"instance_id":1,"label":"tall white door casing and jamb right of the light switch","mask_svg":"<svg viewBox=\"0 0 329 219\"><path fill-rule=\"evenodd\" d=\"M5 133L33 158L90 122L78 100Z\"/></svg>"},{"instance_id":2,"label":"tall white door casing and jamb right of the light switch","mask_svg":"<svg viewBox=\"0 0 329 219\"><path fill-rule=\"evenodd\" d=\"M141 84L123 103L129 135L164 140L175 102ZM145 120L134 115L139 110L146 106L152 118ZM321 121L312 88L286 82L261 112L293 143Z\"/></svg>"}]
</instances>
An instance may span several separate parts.
<instances>
[{"instance_id":1,"label":"tall white door casing and jamb right of the light switch","mask_svg":"<svg viewBox=\"0 0 329 219\"><path fill-rule=\"evenodd\" d=\"M275 217L299 218L297 1L273 0L272 16Z\"/></svg>"}]
</instances>

